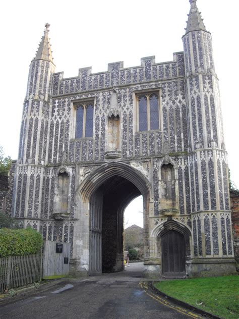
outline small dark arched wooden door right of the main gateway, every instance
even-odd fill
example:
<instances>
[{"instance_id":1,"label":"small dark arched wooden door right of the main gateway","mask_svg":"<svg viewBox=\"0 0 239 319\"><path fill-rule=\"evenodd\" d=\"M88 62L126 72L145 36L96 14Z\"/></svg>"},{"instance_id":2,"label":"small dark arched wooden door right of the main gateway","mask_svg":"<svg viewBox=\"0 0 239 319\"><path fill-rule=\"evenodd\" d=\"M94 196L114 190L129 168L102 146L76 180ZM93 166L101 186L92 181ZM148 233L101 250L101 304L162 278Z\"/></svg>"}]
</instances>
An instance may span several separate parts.
<instances>
[{"instance_id":1,"label":"small dark arched wooden door right of the main gateway","mask_svg":"<svg viewBox=\"0 0 239 319\"><path fill-rule=\"evenodd\" d=\"M184 278L186 262L186 244L183 234L174 230L162 236L162 276Z\"/></svg>"}]
</instances>

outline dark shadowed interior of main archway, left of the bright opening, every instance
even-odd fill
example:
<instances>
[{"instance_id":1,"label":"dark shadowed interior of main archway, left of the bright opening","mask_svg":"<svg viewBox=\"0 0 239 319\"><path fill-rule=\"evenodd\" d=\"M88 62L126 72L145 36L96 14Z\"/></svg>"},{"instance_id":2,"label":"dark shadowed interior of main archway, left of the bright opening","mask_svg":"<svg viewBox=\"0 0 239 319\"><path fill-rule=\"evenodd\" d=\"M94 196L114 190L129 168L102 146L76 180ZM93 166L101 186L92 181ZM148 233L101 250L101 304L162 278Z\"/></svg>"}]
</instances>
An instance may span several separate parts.
<instances>
[{"instance_id":1,"label":"dark shadowed interior of main archway, left of the bright opening","mask_svg":"<svg viewBox=\"0 0 239 319\"><path fill-rule=\"evenodd\" d=\"M140 190L127 178L113 175L90 197L89 275L124 269L124 211Z\"/></svg>"}]
</instances>

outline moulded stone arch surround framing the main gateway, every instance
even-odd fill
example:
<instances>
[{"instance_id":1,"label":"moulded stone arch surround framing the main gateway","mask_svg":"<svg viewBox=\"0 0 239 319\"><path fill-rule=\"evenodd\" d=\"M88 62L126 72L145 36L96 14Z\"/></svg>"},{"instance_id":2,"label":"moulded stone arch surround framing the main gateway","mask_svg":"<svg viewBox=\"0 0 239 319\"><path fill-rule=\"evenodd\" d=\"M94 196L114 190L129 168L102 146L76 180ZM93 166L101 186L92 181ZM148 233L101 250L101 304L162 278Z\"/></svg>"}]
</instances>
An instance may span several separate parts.
<instances>
[{"instance_id":1,"label":"moulded stone arch surround framing the main gateway","mask_svg":"<svg viewBox=\"0 0 239 319\"><path fill-rule=\"evenodd\" d=\"M73 272L87 276L89 273L90 260L90 200L91 195L107 179L113 176L121 176L132 182L141 192L144 202L144 230L145 230L145 251L149 254L149 204L152 194L149 181L145 176L132 168L130 165L121 162L109 162L95 169L83 180L76 190L75 200L75 227L73 242L73 258L75 264ZM129 198L130 200L130 198Z\"/></svg>"}]
</instances>

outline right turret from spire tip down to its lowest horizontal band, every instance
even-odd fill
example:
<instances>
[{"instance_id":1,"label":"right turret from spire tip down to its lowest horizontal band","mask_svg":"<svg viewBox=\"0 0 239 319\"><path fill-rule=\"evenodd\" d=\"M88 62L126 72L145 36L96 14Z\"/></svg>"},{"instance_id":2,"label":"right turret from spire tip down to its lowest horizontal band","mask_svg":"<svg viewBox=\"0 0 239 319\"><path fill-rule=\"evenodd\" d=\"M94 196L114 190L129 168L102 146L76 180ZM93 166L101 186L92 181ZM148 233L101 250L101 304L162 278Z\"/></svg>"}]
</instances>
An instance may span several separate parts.
<instances>
[{"instance_id":1,"label":"right turret from spire tip down to its lowest horizontal band","mask_svg":"<svg viewBox=\"0 0 239 319\"><path fill-rule=\"evenodd\" d=\"M196 0L190 0L190 4L183 43L189 152L195 152L190 159L191 207L192 211L228 209L226 152L211 34Z\"/></svg>"}]
</instances>

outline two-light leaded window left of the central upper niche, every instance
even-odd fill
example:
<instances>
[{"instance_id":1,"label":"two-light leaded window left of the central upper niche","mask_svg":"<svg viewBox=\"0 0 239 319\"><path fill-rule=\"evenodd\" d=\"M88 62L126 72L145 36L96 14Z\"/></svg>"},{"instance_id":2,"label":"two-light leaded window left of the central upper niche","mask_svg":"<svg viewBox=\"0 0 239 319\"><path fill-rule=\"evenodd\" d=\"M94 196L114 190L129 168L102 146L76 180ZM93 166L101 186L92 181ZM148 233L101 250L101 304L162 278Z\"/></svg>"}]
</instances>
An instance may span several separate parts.
<instances>
[{"instance_id":1,"label":"two-light leaded window left of the central upper niche","mask_svg":"<svg viewBox=\"0 0 239 319\"><path fill-rule=\"evenodd\" d=\"M93 136L93 102L83 102L76 105L75 138Z\"/></svg>"}]
</instances>

